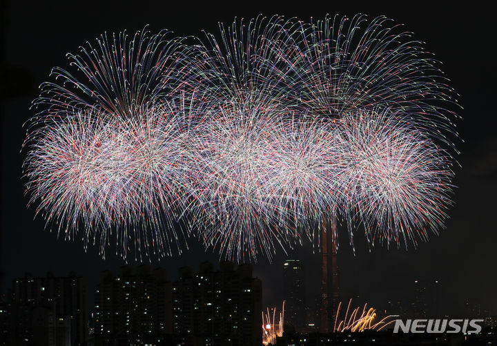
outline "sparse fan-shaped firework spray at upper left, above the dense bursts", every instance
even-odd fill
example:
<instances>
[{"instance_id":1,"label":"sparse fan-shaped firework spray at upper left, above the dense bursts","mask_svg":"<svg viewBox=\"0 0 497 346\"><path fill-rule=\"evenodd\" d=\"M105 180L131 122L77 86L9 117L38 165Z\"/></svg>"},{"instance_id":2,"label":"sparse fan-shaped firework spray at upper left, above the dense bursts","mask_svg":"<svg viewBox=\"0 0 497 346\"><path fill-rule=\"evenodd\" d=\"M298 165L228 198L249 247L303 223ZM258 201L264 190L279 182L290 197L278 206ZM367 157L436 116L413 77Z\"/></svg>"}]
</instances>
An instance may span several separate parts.
<instances>
[{"instance_id":1,"label":"sparse fan-shaped firework spray at upper left, above the dense bursts","mask_svg":"<svg viewBox=\"0 0 497 346\"><path fill-rule=\"evenodd\" d=\"M79 54L66 55L69 68L53 68L55 81L41 84L33 102L40 110L32 122L88 108L133 117L135 110L164 102L184 79L183 41L167 30L152 35L144 28L133 37L124 31L86 42Z\"/></svg>"}]
</instances>

